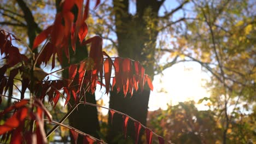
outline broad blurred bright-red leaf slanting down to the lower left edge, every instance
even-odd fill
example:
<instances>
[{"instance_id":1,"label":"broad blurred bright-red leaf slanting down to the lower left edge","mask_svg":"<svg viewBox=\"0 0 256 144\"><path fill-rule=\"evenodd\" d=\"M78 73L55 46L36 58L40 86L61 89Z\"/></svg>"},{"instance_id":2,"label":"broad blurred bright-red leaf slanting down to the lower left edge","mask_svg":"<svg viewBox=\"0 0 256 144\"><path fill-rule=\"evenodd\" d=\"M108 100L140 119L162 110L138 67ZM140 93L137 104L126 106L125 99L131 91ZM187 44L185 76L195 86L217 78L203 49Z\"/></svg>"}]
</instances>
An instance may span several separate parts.
<instances>
[{"instance_id":1,"label":"broad blurred bright-red leaf slanting down to the lower left edge","mask_svg":"<svg viewBox=\"0 0 256 144\"><path fill-rule=\"evenodd\" d=\"M7 131L13 130L14 128L17 128L27 117L27 112L27 107L24 107L15 112L13 116L8 118L3 125L0 125L0 135L7 133Z\"/></svg>"}]
</instances>

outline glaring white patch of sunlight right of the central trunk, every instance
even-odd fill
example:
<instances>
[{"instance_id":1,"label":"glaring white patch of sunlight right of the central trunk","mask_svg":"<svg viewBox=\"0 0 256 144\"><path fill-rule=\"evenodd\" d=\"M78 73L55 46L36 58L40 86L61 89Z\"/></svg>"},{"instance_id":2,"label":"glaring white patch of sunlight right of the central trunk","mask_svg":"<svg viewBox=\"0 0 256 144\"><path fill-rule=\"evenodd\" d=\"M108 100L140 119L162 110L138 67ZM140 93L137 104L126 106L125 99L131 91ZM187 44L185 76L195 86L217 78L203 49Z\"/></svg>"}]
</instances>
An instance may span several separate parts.
<instances>
[{"instance_id":1,"label":"glaring white patch of sunlight right of the central trunk","mask_svg":"<svg viewBox=\"0 0 256 144\"><path fill-rule=\"evenodd\" d=\"M209 78L201 71L200 64L195 62L179 63L163 71L163 76L156 75L153 85L154 91L150 93L149 111L159 108L167 109L168 105L194 100L196 103L210 93L202 86L202 79ZM204 105L197 108L204 109Z\"/></svg>"}]
</instances>

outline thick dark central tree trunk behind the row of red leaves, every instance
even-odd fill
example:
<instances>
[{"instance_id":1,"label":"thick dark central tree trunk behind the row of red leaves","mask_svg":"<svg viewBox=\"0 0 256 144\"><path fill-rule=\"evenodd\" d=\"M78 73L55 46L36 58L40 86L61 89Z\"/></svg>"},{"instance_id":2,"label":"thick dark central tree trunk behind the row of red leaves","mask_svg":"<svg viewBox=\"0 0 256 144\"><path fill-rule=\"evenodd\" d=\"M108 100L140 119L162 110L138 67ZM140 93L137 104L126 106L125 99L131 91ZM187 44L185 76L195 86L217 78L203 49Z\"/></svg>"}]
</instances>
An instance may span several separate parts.
<instances>
[{"instance_id":1,"label":"thick dark central tree trunk behind the row of red leaves","mask_svg":"<svg viewBox=\"0 0 256 144\"><path fill-rule=\"evenodd\" d=\"M119 56L139 61L146 69L146 73L153 78L155 43L158 31L156 29L147 29L146 17L150 17L153 20L152 22L154 25L157 26L158 11L164 1L137 1L137 12L135 16L128 13L128 0L121 2L114 0L113 2ZM123 5L124 7L120 5ZM143 92L139 89L138 92L133 93L132 98L130 98L130 94L124 98L123 93L117 93L115 89L113 89L113 92L110 93L109 107L126 113L132 118L137 119L143 125L146 125L149 94L150 90L147 86L145 86ZM117 137L122 134L123 118L115 115L112 125L110 123L110 115L111 114L109 113L110 129L108 131L107 139L109 143L118 143L118 141L113 140L117 139ZM127 137L129 136L130 139L135 139L134 123L131 121L127 128Z\"/></svg>"}]
</instances>

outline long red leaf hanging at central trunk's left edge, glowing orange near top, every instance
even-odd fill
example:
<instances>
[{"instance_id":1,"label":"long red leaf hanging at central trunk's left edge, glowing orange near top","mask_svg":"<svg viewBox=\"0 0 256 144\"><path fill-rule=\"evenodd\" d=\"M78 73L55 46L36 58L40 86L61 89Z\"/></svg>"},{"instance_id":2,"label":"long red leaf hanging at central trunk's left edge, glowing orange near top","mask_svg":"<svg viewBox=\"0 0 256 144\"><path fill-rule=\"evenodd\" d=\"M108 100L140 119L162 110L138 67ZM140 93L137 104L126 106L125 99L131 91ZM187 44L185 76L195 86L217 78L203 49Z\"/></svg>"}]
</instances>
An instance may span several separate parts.
<instances>
[{"instance_id":1,"label":"long red leaf hanging at central trunk's left edge, glowing orange near top","mask_svg":"<svg viewBox=\"0 0 256 144\"><path fill-rule=\"evenodd\" d=\"M111 58L107 58L104 62L105 86L106 86L107 94L109 92L111 72L112 72L112 60Z\"/></svg>"}]
</instances>

